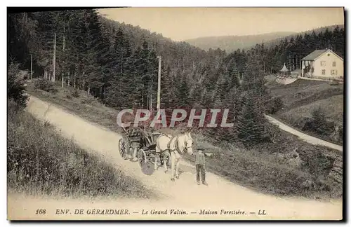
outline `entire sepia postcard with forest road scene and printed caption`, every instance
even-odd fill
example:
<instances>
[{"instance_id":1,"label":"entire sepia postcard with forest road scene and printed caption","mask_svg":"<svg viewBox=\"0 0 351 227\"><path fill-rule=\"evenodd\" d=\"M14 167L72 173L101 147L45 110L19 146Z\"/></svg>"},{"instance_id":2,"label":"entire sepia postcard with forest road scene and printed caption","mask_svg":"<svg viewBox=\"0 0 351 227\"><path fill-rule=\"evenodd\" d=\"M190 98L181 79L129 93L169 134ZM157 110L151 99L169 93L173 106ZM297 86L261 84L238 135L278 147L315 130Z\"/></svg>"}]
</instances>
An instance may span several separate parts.
<instances>
[{"instance_id":1,"label":"entire sepia postcard with forest road scene and printed caption","mask_svg":"<svg viewBox=\"0 0 351 227\"><path fill-rule=\"evenodd\" d=\"M8 220L342 220L344 8L8 8Z\"/></svg>"}]
</instances>

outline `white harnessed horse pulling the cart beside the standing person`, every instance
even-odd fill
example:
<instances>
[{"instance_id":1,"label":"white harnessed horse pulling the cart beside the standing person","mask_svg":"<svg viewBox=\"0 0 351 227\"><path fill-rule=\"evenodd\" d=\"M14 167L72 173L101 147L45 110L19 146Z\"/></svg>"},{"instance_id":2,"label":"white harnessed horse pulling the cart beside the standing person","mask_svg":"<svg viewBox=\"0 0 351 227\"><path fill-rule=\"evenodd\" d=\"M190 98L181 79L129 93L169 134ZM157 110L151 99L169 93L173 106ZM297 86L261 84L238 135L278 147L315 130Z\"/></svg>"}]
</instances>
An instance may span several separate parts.
<instances>
[{"instance_id":1,"label":"white harnessed horse pulling the cart beside the standing person","mask_svg":"<svg viewBox=\"0 0 351 227\"><path fill-rule=\"evenodd\" d=\"M171 153L171 180L174 181L174 178L179 178L179 163L182 158L181 154L187 151L190 155L192 152L193 144L192 136L189 132L178 135L176 137L171 137L169 135L160 135L156 140L156 152L163 155L164 160L164 172L167 172L167 158ZM155 169L157 164L155 161Z\"/></svg>"}]
</instances>

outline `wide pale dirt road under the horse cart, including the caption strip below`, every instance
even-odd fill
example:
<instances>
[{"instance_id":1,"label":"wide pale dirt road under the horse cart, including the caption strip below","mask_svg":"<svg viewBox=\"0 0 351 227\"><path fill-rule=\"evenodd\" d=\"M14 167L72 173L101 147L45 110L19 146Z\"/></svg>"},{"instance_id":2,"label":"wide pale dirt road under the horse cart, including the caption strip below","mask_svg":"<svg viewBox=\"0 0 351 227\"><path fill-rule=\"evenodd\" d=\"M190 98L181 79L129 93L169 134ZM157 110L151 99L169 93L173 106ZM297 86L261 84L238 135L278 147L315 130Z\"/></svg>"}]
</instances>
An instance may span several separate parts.
<instances>
[{"instance_id":1,"label":"wide pale dirt road under the horse cart, including the caption strip below","mask_svg":"<svg viewBox=\"0 0 351 227\"><path fill-rule=\"evenodd\" d=\"M277 198L272 195L256 193L247 188L232 184L230 181L207 173L209 186L198 186L194 181L194 168L189 163L181 163L183 174L175 182L160 168L151 176L141 172L138 163L122 160L119 156L120 136L105 128L89 123L78 116L49 105L36 97L30 97L27 110L45 121L50 121L62 135L74 140L84 149L113 163L145 186L161 195L160 200L72 200L22 198L8 195L8 217L11 219L341 219L342 201L318 202L296 198ZM84 171L84 170L82 170ZM74 209L129 209L130 216L114 215L74 215ZM35 215L38 208L46 208L46 216ZM69 209L72 214L55 214L55 209ZM143 209L165 210L167 214L142 214ZM187 214L170 214L170 209L183 209ZM200 214L200 209L217 214ZM220 214L226 211L240 211L244 214ZM262 214L265 210L265 214ZM191 212L194 212L191 214ZM253 212L253 213L250 213Z\"/></svg>"}]
</instances>

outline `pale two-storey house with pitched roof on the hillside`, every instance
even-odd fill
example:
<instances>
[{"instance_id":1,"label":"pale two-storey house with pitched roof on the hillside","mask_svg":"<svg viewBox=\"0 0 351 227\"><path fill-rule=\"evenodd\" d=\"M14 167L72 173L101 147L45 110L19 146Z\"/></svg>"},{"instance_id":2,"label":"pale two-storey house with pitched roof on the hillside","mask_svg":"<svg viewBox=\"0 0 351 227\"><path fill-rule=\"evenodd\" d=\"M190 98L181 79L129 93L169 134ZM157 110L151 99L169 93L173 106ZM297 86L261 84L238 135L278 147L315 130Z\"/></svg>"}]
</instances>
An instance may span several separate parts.
<instances>
[{"instance_id":1,"label":"pale two-storey house with pitched roof on the hillside","mask_svg":"<svg viewBox=\"0 0 351 227\"><path fill-rule=\"evenodd\" d=\"M301 76L322 79L343 79L344 60L332 50L314 50L301 60Z\"/></svg>"}]
</instances>

